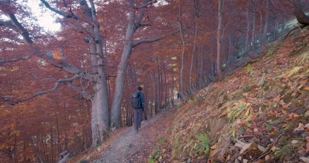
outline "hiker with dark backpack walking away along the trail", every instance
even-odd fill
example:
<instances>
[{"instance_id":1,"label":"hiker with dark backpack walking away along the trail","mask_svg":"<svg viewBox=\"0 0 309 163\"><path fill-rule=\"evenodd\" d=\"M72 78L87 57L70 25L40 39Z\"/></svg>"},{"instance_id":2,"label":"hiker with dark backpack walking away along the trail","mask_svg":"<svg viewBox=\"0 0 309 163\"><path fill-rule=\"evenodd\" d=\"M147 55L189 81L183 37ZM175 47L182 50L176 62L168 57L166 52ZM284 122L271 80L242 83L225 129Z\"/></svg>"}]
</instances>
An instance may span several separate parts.
<instances>
[{"instance_id":1,"label":"hiker with dark backpack walking away along the trail","mask_svg":"<svg viewBox=\"0 0 309 163\"><path fill-rule=\"evenodd\" d=\"M138 86L137 91L132 94L131 105L134 110L134 129L137 132L141 128L145 97L141 92L142 87Z\"/></svg>"}]
</instances>

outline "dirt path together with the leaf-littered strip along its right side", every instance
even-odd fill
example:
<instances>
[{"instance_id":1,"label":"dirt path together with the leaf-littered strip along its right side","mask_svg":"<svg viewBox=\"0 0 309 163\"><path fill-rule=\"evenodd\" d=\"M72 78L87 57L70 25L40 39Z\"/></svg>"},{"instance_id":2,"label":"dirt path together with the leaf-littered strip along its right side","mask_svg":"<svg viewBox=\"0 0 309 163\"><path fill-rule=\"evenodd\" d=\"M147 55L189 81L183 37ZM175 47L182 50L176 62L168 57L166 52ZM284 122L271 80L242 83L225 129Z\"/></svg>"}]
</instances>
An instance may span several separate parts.
<instances>
[{"instance_id":1,"label":"dirt path together with the leaf-littered strip along its right side","mask_svg":"<svg viewBox=\"0 0 309 163\"><path fill-rule=\"evenodd\" d=\"M174 113L177 103L174 107L163 110L158 115L143 121L138 132L135 132L133 126L128 127L91 162L148 162L149 155L160 138L171 134L168 133L171 132L169 127L172 126L173 121L171 115Z\"/></svg>"}]
</instances>

